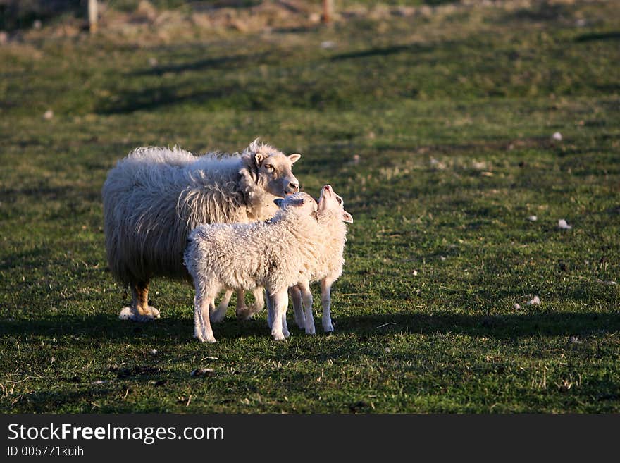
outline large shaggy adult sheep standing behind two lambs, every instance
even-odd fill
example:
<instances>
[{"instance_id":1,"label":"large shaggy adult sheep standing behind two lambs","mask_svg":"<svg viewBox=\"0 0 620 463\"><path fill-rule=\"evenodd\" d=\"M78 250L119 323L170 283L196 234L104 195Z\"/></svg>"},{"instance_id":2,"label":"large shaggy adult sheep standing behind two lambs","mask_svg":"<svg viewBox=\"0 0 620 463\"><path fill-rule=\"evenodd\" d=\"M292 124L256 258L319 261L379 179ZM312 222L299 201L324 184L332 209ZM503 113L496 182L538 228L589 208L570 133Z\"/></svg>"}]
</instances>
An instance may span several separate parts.
<instances>
[{"instance_id":1,"label":"large shaggy adult sheep standing behind two lambs","mask_svg":"<svg viewBox=\"0 0 620 463\"><path fill-rule=\"evenodd\" d=\"M183 251L199 224L271 218L278 211L274 199L299 191L292 165L300 157L254 140L241 154L142 147L118 161L102 196L109 268L132 292L132 307L120 318L159 318L149 306L149 282L189 278Z\"/></svg>"}]
</instances>

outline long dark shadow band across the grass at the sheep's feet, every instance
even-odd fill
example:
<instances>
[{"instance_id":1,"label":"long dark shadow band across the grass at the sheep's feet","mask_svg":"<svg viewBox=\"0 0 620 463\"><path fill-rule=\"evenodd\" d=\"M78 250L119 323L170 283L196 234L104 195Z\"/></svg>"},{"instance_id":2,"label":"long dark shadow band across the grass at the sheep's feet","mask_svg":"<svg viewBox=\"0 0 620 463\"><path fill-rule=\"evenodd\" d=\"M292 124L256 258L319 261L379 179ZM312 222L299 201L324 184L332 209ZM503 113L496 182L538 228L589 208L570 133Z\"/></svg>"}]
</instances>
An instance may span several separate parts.
<instances>
[{"instance_id":1,"label":"long dark shadow band across the grass at the sheep's feet","mask_svg":"<svg viewBox=\"0 0 620 463\"><path fill-rule=\"evenodd\" d=\"M289 328L293 335L302 333L289 314ZM321 322L317 320L318 332ZM356 333L362 337L374 337L392 333L408 332L422 334L462 334L485 338L517 339L531 336L571 336L620 331L620 314L597 312L533 313L509 315L466 314L377 314L340 316L335 319L335 334ZM227 319L213 326L216 338L221 340L269 335L264 319L237 321ZM190 319L161 319L153 323L119 321L114 316L59 316L35 321L4 320L1 336L20 335L71 335L74 342L137 342L150 343L152 338L164 336L167 342L195 342ZM318 336L321 336L319 334Z\"/></svg>"}]
</instances>

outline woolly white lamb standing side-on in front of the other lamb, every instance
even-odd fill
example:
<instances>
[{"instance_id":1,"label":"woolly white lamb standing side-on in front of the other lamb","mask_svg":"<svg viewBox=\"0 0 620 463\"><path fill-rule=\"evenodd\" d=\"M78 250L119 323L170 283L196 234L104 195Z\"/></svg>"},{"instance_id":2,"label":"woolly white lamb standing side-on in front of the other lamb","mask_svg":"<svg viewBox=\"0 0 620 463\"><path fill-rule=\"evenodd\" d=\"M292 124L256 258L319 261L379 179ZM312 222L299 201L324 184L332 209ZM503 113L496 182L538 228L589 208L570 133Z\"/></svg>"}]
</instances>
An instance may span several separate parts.
<instances>
[{"instance_id":1,"label":"woolly white lamb standing side-on in front of the other lamb","mask_svg":"<svg viewBox=\"0 0 620 463\"><path fill-rule=\"evenodd\" d=\"M194 279L194 336L215 342L209 307L224 288L265 288L273 299L271 335L283 340L288 288L309 280L308 262L323 251L316 201L306 193L276 200L280 211L271 221L213 223L195 228L188 237L185 266ZM213 319L221 319L219 310ZM225 310L225 307L224 307Z\"/></svg>"}]
</instances>

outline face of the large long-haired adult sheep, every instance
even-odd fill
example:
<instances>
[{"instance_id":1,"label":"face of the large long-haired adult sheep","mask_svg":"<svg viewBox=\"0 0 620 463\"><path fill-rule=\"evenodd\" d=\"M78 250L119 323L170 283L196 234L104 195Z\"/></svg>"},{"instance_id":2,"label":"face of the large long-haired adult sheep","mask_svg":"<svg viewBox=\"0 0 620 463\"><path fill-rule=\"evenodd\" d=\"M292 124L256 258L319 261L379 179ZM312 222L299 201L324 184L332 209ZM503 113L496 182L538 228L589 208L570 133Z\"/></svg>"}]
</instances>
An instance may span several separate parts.
<instances>
[{"instance_id":1,"label":"face of the large long-haired adult sheep","mask_svg":"<svg viewBox=\"0 0 620 463\"><path fill-rule=\"evenodd\" d=\"M285 156L277 149L263 144L254 156L258 168L257 183L266 192L278 197L287 197L299 191L299 180L292 173L292 166L301 154Z\"/></svg>"}]
</instances>

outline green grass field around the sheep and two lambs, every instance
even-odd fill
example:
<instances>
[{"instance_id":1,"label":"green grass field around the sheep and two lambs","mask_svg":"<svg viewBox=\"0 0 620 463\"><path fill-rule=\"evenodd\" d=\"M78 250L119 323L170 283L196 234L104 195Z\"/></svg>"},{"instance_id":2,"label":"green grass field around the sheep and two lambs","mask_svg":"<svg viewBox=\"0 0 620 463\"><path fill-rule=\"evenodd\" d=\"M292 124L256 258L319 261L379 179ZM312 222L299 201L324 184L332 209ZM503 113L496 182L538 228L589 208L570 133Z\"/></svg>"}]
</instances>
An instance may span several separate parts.
<instances>
[{"instance_id":1,"label":"green grass field around the sheep and two lambs","mask_svg":"<svg viewBox=\"0 0 620 463\"><path fill-rule=\"evenodd\" d=\"M0 410L620 412L620 2L507 3L0 44ZM118 320L109 168L255 137L354 216L335 333Z\"/></svg>"}]
</instances>

